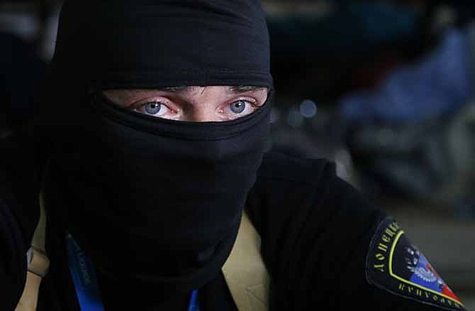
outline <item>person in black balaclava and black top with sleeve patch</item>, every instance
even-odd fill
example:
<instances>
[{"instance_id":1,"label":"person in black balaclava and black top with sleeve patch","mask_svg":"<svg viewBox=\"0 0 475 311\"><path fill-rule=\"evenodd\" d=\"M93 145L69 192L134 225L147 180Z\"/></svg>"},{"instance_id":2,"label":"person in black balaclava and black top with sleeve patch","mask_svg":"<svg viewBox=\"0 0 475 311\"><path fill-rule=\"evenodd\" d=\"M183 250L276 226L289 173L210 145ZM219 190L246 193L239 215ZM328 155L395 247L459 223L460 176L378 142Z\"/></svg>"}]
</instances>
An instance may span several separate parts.
<instances>
[{"instance_id":1,"label":"person in black balaclava and black top with sleeve patch","mask_svg":"<svg viewBox=\"0 0 475 311\"><path fill-rule=\"evenodd\" d=\"M48 85L37 310L464 309L335 165L267 151L259 1L67 0ZM1 310L28 287L38 219L13 201Z\"/></svg>"}]
</instances>

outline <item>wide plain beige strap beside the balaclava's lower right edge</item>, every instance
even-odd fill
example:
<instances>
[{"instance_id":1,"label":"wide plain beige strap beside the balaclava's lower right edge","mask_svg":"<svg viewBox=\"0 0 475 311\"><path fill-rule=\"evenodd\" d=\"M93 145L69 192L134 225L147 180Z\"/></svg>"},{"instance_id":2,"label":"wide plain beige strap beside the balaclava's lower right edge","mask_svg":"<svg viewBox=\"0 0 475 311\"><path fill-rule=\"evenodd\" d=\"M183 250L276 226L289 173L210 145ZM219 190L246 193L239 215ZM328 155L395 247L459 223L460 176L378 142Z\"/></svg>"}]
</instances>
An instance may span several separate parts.
<instances>
[{"instance_id":1,"label":"wide plain beige strap beside the balaclava's lower right edge","mask_svg":"<svg viewBox=\"0 0 475 311\"><path fill-rule=\"evenodd\" d=\"M239 311L267 311L270 278L260 253L261 239L246 213L223 274Z\"/></svg>"}]
</instances>

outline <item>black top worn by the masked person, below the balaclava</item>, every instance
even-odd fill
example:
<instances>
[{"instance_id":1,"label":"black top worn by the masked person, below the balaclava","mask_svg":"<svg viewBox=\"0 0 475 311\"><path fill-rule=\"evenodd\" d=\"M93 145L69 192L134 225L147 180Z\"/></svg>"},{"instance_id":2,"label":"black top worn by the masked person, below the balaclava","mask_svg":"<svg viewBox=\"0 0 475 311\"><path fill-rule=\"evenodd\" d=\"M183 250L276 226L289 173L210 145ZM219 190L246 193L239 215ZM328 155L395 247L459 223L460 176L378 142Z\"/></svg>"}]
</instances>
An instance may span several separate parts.
<instances>
[{"instance_id":1,"label":"black top worn by the masked person, below the balaclava","mask_svg":"<svg viewBox=\"0 0 475 311\"><path fill-rule=\"evenodd\" d=\"M15 157L10 160L16 162ZM38 204L33 195L13 192L11 185L19 182L13 171L3 170L2 178L0 288L6 295L0 296L0 310L13 310L23 290ZM40 288L38 311L79 310L67 266L65 228L54 214L60 206L49 193L46 248L51 266ZM369 281L371 240L386 214L338 178L328 160L268 153L246 208L262 236L262 256L272 277L271 310L444 310L442 305L463 310L445 300L428 305L420 301L425 298L408 297L401 285ZM106 310L186 310L183 295L157 293L144 284L117 284L104 275L99 284ZM201 289L200 301L202 310L236 310L223 275Z\"/></svg>"}]
</instances>

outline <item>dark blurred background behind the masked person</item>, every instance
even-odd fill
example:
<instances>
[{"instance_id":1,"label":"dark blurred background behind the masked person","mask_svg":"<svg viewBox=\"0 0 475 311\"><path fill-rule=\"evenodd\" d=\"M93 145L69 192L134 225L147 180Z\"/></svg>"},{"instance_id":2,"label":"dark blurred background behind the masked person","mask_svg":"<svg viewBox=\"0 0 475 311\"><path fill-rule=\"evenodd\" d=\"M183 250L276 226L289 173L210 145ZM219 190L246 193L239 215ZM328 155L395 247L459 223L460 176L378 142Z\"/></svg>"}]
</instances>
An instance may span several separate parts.
<instances>
[{"instance_id":1,"label":"dark blurred background behind the masked person","mask_svg":"<svg viewBox=\"0 0 475 311\"><path fill-rule=\"evenodd\" d=\"M61 3L0 1L0 141L41 108ZM474 1L263 3L272 148L335 160L475 309Z\"/></svg>"}]
</instances>

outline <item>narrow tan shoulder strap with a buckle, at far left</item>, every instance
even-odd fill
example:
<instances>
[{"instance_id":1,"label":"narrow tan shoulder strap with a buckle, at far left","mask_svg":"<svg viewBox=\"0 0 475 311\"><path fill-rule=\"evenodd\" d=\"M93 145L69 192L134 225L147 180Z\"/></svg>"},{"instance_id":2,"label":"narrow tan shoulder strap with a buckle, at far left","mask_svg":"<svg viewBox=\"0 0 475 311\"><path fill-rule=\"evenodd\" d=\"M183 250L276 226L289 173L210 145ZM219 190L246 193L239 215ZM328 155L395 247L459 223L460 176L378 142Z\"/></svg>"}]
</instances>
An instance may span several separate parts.
<instances>
[{"instance_id":1,"label":"narrow tan shoulder strap with a buckle, at far left","mask_svg":"<svg viewBox=\"0 0 475 311\"><path fill-rule=\"evenodd\" d=\"M40 290L41 279L45 277L50 266L50 260L46 256L46 215L43 201L43 194L40 194L40 219L36 226L30 249L28 249L28 272L26 273L26 284L23 289L20 301L15 311L35 311L38 304L38 292Z\"/></svg>"}]
</instances>

